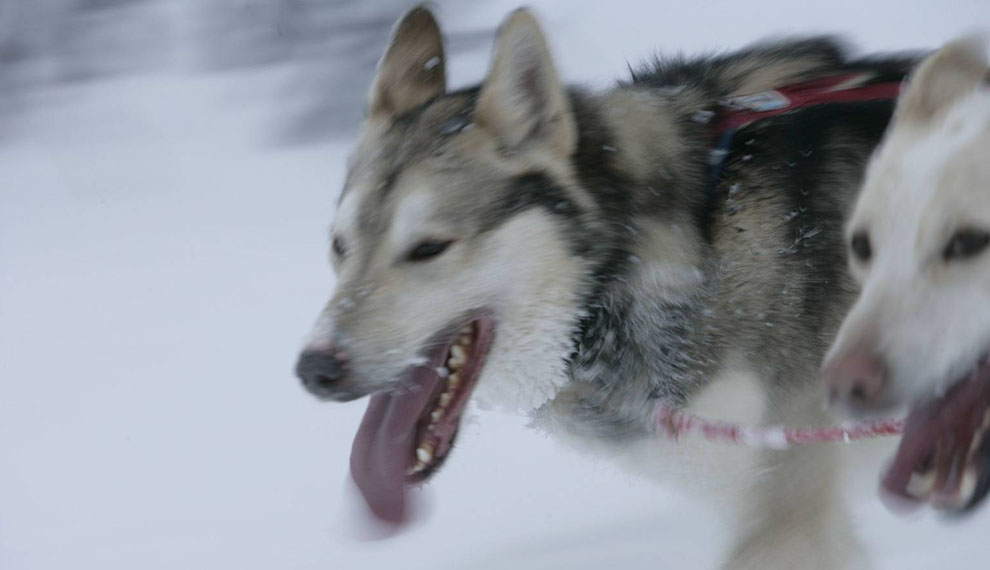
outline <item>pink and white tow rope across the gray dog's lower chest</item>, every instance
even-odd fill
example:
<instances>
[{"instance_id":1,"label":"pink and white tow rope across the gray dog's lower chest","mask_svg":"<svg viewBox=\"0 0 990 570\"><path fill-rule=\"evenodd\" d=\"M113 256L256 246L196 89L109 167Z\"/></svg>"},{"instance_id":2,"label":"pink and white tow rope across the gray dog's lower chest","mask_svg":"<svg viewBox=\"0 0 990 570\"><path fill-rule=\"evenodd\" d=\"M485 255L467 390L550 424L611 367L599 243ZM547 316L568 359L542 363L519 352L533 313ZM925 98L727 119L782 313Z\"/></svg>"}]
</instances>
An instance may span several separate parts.
<instances>
[{"instance_id":1,"label":"pink and white tow rope across the gray dog's lower chest","mask_svg":"<svg viewBox=\"0 0 990 570\"><path fill-rule=\"evenodd\" d=\"M787 449L792 445L808 445L810 443L849 443L857 439L900 435L904 432L904 420L895 419L808 428L742 426L709 420L666 404L657 406L654 418L660 431L673 439L685 435L695 435L714 442L769 449Z\"/></svg>"}]
</instances>

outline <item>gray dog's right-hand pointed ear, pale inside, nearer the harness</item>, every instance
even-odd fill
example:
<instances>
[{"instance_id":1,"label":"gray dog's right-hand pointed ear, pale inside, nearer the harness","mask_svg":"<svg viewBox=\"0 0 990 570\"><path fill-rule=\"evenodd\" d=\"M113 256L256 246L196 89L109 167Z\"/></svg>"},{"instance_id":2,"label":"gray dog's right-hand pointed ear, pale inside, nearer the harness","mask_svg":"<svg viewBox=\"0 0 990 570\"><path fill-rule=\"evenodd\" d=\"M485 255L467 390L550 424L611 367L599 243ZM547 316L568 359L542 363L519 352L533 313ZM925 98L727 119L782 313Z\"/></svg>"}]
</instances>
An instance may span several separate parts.
<instances>
[{"instance_id":1,"label":"gray dog's right-hand pointed ear, pale inside, nearer the harness","mask_svg":"<svg viewBox=\"0 0 990 570\"><path fill-rule=\"evenodd\" d=\"M516 10L499 28L475 120L506 149L536 143L570 156L577 146L570 100L540 25L528 10Z\"/></svg>"}]
</instances>

